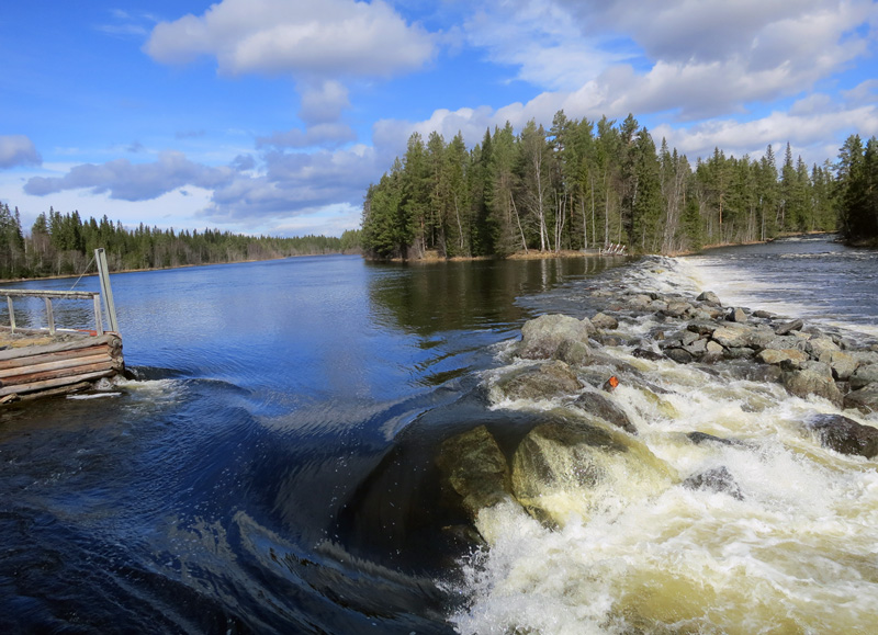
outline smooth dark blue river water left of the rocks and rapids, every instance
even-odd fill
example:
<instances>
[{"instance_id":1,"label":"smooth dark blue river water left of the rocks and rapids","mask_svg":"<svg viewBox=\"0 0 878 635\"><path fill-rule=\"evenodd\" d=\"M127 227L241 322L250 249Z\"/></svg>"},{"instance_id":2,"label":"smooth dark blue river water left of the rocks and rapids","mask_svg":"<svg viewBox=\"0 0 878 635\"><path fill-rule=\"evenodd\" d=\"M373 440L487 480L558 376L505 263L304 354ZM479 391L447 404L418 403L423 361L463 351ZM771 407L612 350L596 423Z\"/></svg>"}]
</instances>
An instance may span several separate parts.
<instances>
[{"instance_id":1,"label":"smooth dark blue river water left of the rocks and rapids","mask_svg":"<svg viewBox=\"0 0 878 635\"><path fill-rule=\"evenodd\" d=\"M112 276L137 381L0 410L0 630L451 632L466 545L443 530L461 519L436 445L526 417L487 409L492 344L551 308L528 298L604 267L325 257ZM56 302L56 320L89 328L88 309Z\"/></svg>"}]
</instances>

